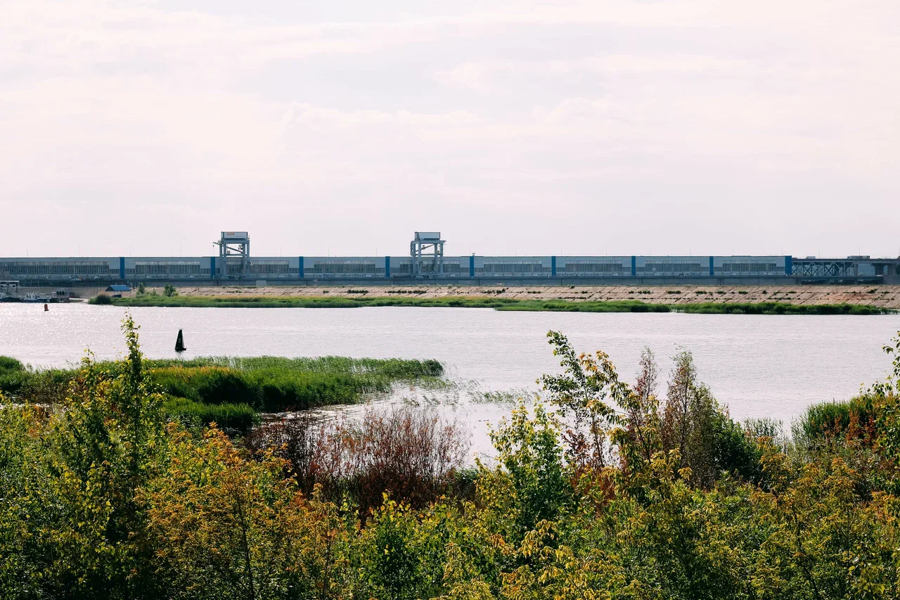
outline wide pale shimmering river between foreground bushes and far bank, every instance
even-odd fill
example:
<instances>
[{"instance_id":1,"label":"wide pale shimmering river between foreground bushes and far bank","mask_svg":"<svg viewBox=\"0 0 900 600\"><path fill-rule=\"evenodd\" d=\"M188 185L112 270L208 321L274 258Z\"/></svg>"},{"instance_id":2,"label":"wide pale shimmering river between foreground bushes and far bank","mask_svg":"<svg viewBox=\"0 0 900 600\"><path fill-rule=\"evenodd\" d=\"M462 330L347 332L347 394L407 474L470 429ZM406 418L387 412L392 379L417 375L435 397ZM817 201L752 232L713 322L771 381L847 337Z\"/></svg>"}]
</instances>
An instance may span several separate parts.
<instances>
[{"instance_id":1,"label":"wide pale shimmering river between foreground bushes and far bank","mask_svg":"<svg viewBox=\"0 0 900 600\"><path fill-rule=\"evenodd\" d=\"M559 371L546 332L569 336L579 351L604 350L633 380L649 346L663 375L671 356L690 350L701 380L738 419L788 424L807 405L842 400L884 377L881 348L900 330L900 315L774 316L734 314L523 313L474 308L132 308L149 358L175 357L184 329L194 356L324 356L437 359L459 384L447 410L485 446L486 423L509 407L473 399L484 392L537 389ZM89 348L100 359L121 354L125 309L85 304L0 304L0 355L40 367L76 362ZM664 387L664 382L663 382ZM663 391L663 390L661 390ZM421 400L431 393L401 390ZM395 398L396 399L396 398Z\"/></svg>"}]
</instances>

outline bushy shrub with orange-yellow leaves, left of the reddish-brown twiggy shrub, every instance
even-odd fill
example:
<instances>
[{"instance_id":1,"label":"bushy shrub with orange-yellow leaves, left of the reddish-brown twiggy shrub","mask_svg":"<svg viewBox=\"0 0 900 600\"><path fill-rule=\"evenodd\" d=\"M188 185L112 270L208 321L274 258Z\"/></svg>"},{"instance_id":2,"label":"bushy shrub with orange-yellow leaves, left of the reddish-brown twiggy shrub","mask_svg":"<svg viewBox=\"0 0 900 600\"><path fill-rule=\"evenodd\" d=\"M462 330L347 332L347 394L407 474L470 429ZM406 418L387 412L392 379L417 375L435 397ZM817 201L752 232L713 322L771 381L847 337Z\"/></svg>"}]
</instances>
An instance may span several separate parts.
<instances>
[{"instance_id":1,"label":"bushy shrub with orange-yellow leaves, left of the reddish-brown twiggy shrub","mask_svg":"<svg viewBox=\"0 0 900 600\"><path fill-rule=\"evenodd\" d=\"M304 498L284 478L283 460L245 459L215 428L200 441L171 431L172 467L148 497L169 595L338 597L347 530L334 505Z\"/></svg>"}]
</instances>

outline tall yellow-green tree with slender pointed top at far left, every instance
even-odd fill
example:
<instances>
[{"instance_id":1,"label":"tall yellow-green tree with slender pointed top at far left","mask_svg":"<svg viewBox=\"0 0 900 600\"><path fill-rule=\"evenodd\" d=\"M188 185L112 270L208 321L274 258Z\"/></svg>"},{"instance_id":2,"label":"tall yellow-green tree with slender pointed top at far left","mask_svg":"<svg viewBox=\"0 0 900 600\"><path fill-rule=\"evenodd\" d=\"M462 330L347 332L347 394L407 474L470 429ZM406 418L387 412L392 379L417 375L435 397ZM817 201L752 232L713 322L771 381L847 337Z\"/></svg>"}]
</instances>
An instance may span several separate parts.
<instances>
[{"instance_id":1,"label":"tall yellow-green tree with slender pointed top at far left","mask_svg":"<svg viewBox=\"0 0 900 600\"><path fill-rule=\"evenodd\" d=\"M138 327L122 321L129 353L112 371L84 359L65 411L34 429L17 503L31 506L41 595L152 594L142 486L165 445L162 396L146 377Z\"/></svg>"}]
</instances>

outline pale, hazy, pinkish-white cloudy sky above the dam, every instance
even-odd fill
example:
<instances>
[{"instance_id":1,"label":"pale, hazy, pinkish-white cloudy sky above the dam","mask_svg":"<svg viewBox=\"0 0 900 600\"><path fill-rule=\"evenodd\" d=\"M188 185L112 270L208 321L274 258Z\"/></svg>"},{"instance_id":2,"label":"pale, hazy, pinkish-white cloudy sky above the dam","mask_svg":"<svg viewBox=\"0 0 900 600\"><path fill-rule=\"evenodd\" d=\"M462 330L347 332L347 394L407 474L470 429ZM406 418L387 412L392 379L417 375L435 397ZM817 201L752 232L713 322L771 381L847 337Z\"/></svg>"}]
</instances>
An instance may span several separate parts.
<instances>
[{"instance_id":1,"label":"pale, hazy, pinkish-white cloudy sky above the dam","mask_svg":"<svg viewBox=\"0 0 900 600\"><path fill-rule=\"evenodd\" d=\"M896 0L0 0L0 256L900 254Z\"/></svg>"}]
</instances>

